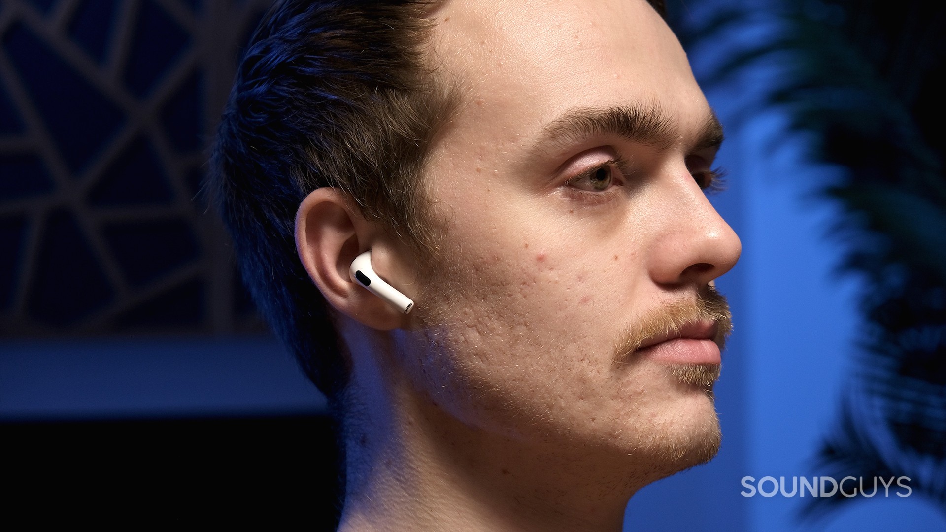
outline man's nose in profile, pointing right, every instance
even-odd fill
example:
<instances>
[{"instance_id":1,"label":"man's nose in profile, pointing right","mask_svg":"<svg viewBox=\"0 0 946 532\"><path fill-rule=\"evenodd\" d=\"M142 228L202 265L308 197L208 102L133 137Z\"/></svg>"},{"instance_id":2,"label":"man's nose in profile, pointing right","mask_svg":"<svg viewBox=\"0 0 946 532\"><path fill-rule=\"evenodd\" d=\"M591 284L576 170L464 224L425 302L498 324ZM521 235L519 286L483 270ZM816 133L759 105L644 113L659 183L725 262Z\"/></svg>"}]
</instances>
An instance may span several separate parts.
<instances>
[{"instance_id":1,"label":"man's nose in profile, pointing right","mask_svg":"<svg viewBox=\"0 0 946 532\"><path fill-rule=\"evenodd\" d=\"M692 178L676 180L663 198L667 212L655 224L650 275L657 284L708 284L739 260L743 246ZM661 209L662 210L662 209Z\"/></svg>"}]
</instances>

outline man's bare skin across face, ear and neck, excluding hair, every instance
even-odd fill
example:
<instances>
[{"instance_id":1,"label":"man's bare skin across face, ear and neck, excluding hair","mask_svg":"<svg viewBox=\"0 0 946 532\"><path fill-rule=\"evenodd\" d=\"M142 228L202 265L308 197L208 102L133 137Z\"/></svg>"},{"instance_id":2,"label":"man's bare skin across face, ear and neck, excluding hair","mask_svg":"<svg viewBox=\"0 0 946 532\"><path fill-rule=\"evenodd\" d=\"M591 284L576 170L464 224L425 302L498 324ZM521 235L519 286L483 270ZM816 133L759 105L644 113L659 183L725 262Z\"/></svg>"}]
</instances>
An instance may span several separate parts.
<instances>
[{"instance_id":1,"label":"man's bare skin across face, ear and neck, excluding hair","mask_svg":"<svg viewBox=\"0 0 946 532\"><path fill-rule=\"evenodd\" d=\"M620 530L636 490L719 445L707 386L674 371L718 365L695 301L741 250L701 189L714 118L643 0L431 17L464 95L425 172L445 258L419 271L331 189L297 219L353 361L340 530ZM365 249L412 314L348 277ZM642 346L668 309L683 338Z\"/></svg>"}]
</instances>

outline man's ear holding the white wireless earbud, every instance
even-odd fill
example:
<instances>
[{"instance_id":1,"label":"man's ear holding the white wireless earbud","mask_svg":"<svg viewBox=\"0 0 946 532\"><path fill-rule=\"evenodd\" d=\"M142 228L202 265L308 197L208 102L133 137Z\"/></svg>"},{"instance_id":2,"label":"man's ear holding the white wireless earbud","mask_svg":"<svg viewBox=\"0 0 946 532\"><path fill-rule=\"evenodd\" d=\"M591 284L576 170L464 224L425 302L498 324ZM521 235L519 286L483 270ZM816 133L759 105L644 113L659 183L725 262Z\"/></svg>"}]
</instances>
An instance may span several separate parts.
<instances>
[{"instance_id":1,"label":"man's ear holding the white wireless earbud","mask_svg":"<svg viewBox=\"0 0 946 532\"><path fill-rule=\"evenodd\" d=\"M331 186L317 188L303 200L295 222L299 259L328 304L342 314L371 328L403 327L403 313L349 274L355 257L383 235L381 227L364 220L352 205L347 194Z\"/></svg>"}]
</instances>

